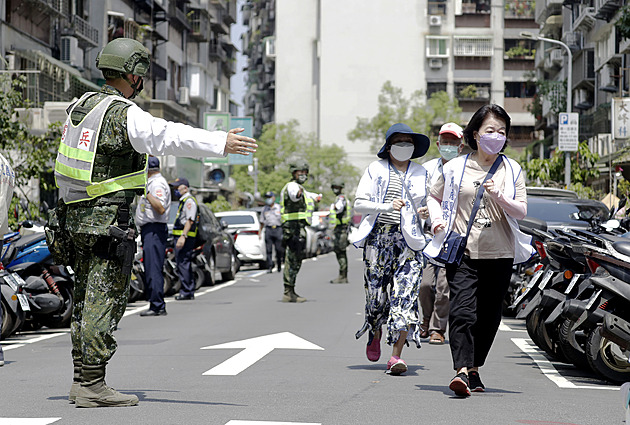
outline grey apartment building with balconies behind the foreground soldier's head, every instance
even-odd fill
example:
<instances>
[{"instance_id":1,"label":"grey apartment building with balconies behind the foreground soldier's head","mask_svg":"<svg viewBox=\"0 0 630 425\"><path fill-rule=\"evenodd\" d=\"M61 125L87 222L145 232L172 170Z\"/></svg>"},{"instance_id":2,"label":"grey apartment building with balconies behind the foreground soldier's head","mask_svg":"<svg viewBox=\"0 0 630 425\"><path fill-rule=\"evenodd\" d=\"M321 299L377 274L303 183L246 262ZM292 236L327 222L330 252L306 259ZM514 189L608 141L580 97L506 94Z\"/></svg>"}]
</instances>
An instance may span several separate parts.
<instances>
[{"instance_id":1,"label":"grey apartment building with balconies behind the foreground soldier's head","mask_svg":"<svg viewBox=\"0 0 630 425\"><path fill-rule=\"evenodd\" d=\"M236 11L236 0L0 0L0 70L27 77L24 95L36 106L29 124L43 131L65 120L72 99L100 90L95 61L103 46L133 38L152 60L138 105L203 127L207 112L235 112ZM208 186L202 159L163 158L163 166L168 177Z\"/></svg>"}]
</instances>

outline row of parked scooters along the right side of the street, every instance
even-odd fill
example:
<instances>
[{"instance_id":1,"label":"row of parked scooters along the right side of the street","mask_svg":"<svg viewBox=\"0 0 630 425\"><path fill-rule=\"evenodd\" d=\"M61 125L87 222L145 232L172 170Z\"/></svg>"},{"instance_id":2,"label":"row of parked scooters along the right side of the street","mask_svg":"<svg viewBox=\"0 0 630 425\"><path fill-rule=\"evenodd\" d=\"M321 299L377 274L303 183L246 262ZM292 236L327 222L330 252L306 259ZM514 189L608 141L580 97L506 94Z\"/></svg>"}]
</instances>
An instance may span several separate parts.
<instances>
[{"instance_id":1,"label":"row of parked scooters along the right side of the street","mask_svg":"<svg viewBox=\"0 0 630 425\"><path fill-rule=\"evenodd\" d=\"M611 216L612 213L611 213ZM508 311L526 320L532 341L554 360L630 381L630 239L625 222L588 229L521 228L538 255L513 275ZM624 236L622 236L624 235Z\"/></svg>"}]
</instances>

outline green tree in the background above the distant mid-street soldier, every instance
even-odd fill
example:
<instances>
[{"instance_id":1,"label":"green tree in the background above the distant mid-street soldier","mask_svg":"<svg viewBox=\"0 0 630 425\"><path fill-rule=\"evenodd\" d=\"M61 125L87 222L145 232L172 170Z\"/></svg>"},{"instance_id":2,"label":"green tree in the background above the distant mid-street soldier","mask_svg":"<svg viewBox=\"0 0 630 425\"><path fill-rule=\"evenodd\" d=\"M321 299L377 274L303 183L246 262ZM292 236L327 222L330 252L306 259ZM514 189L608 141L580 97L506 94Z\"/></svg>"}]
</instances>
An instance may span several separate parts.
<instances>
[{"instance_id":1,"label":"green tree in the background above the distant mid-street soldier","mask_svg":"<svg viewBox=\"0 0 630 425\"><path fill-rule=\"evenodd\" d=\"M320 208L330 204L334 195L330 183L335 177L346 180L346 192L356 186L359 172L347 160L345 150L337 145L322 145L314 134L300 132L297 121L286 124L266 124L258 138L258 190L260 193L273 191L279 194L291 179L289 164L305 160L309 164L309 179L304 185L307 190L323 194ZM253 193L254 179L247 174L247 167L233 166L232 177L239 190Z\"/></svg>"}]
</instances>

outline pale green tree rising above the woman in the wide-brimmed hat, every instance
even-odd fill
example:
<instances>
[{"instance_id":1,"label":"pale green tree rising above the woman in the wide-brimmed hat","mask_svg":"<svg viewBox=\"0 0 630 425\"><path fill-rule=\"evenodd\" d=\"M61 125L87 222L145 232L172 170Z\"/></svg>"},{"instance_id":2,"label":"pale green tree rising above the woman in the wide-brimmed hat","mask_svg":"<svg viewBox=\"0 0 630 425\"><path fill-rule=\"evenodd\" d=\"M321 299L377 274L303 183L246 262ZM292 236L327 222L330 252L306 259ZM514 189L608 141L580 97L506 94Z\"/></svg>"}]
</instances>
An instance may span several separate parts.
<instances>
[{"instance_id":1,"label":"pale green tree rising above the woman in the wide-brimmed hat","mask_svg":"<svg viewBox=\"0 0 630 425\"><path fill-rule=\"evenodd\" d=\"M348 138L352 141L368 141L376 152L383 145L385 133L392 124L402 122L418 133L436 138L437 130L443 123L461 122L461 112L457 99L451 99L444 91L433 93L425 104L420 90L407 98L401 88L387 81L378 96L376 115L372 118L357 117L357 124L348 133ZM438 155L435 144L431 144L427 156Z\"/></svg>"}]
</instances>

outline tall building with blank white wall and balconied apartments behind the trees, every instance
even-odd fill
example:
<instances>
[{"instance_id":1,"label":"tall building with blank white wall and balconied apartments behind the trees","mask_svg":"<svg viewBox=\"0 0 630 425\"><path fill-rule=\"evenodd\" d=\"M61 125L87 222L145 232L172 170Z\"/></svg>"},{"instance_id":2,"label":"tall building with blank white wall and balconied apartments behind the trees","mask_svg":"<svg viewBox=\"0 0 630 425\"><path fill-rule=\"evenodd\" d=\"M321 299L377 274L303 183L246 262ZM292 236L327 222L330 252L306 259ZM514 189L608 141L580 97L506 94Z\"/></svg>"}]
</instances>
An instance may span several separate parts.
<instances>
[{"instance_id":1,"label":"tall building with blank white wall and balconied apartments behind the trees","mask_svg":"<svg viewBox=\"0 0 630 425\"><path fill-rule=\"evenodd\" d=\"M377 113L383 84L405 95L446 91L458 99L465 124L481 105L504 105L511 141L531 144L535 120L534 1L509 0L260 0L248 1L246 114L266 122L296 119L323 143L343 146L363 167L374 159L351 142L357 117ZM438 126L440 123L435 123Z\"/></svg>"}]
</instances>

